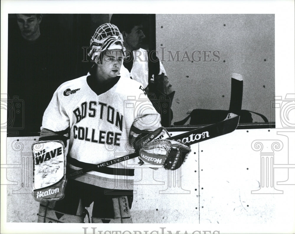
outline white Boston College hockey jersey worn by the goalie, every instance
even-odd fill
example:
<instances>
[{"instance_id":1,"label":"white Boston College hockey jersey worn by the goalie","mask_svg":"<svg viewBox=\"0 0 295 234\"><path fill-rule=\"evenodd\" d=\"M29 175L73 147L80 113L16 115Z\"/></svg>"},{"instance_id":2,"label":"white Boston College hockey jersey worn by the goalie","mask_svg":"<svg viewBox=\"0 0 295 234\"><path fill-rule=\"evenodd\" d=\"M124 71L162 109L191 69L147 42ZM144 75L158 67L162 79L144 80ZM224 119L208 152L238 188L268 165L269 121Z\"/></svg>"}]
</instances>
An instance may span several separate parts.
<instances>
[{"instance_id":1,"label":"white Boston College hockey jersey worn by the goalie","mask_svg":"<svg viewBox=\"0 0 295 234\"><path fill-rule=\"evenodd\" d=\"M53 94L43 115L42 129L70 129L68 166L78 170L85 163L98 164L132 153L130 129L153 131L160 115L137 81L121 76L105 93L97 95L87 76L67 81ZM110 189L132 189L138 159L123 161L75 179ZM111 167L111 168L110 168ZM116 168L116 169L113 169Z\"/></svg>"}]
</instances>

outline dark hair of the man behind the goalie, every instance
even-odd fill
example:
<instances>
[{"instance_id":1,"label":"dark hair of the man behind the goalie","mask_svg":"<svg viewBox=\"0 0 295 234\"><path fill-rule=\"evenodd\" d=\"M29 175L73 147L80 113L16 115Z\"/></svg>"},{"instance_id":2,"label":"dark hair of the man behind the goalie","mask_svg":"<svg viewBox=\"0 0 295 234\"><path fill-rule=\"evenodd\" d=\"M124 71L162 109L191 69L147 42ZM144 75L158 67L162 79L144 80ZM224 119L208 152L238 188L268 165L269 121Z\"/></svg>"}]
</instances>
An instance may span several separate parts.
<instances>
[{"instance_id":1,"label":"dark hair of the man behind the goalie","mask_svg":"<svg viewBox=\"0 0 295 234\"><path fill-rule=\"evenodd\" d=\"M132 28L145 22L147 14L112 14L110 23L118 27L120 32L130 33Z\"/></svg>"}]
</instances>

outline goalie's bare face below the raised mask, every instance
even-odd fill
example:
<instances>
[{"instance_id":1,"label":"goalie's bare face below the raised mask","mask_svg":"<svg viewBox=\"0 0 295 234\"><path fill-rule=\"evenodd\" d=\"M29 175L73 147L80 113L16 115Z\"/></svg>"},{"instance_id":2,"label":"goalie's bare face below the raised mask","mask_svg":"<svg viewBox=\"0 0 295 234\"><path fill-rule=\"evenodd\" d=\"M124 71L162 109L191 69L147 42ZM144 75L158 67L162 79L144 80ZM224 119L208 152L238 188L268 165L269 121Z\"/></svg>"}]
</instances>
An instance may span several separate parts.
<instances>
[{"instance_id":1,"label":"goalie's bare face below the raised mask","mask_svg":"<svg viewBox=\"0 0 295 234\"><path fill-rule=\"evenodd\" d=\"M102 58L102 63L97 64L97 74L99 79L107 80L118 76L122 61L122 50L107 50Z\"/></svg>"}]
</instances>

